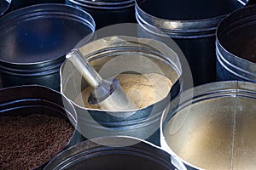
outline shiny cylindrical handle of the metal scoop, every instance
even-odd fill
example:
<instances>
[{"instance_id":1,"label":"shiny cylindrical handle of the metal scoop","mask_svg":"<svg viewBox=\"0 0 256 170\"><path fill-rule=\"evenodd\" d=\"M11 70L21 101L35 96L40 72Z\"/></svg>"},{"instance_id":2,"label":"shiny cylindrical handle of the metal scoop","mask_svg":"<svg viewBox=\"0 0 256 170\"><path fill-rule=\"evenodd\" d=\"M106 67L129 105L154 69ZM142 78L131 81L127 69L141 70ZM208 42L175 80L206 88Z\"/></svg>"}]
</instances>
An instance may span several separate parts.
<instances>
[{"instance_id":1,"label":"shiny cylindrical handle of the metal scoop","mask_svg":"<svg viewBox=\"0 0 256 170\"><path fill-rule=\"evenodd\" d=\"M91 88L96 88L102 83L102 77L96 72L96 70L90 65L87 59L83 59L79 49L74 48L67 55L66 59L71 61L73 66L79 71L80 75L90 84Z\"/></svg>"}]
</instances>

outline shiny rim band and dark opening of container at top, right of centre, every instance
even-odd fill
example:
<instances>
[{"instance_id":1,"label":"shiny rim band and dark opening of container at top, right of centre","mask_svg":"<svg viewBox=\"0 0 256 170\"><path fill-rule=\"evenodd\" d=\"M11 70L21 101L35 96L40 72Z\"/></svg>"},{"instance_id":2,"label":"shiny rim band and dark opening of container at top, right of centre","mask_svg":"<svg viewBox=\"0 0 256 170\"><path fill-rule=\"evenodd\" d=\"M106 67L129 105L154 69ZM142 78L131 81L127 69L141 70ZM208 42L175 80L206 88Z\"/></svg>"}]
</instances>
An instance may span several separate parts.
<instances>
[{"instance_id":1,"label":"shiny rim band and dark opening of container at top, right of centre","mask_svg":"<svg viewBox=\"0 0 256 170\"><path fill-rule=\"evenodd\" d=\"M157 4L154 0L136 0L136 16L139 23L173 37L209 37L214 35L219 21L226 14L243 7L247 0L209 3L197 0L179 3L163 1ZM199 8L208 10L204 13Z\"/></svg>"}]
</instances>

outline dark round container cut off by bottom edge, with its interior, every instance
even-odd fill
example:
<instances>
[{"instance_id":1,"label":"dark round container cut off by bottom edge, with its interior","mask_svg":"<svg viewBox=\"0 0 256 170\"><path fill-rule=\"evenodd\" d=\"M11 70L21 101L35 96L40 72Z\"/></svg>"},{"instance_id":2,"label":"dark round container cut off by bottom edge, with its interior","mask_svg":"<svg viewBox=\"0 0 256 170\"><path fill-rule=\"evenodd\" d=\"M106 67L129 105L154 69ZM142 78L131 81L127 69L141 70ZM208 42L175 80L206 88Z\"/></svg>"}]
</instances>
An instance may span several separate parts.
<instances>
[{"instance_id":1,"label":"dark round container cut off by bottom edge, with its interior","mask_svg":"<svg viewBox=\"0 0 256 170\"><path fill-rule=\"evenodd\" d=\"M125 143L136 144L122 146ZM119 136L92 139L76 144L55 156L55 159L44 169L177 169L171 161L173 161L172 156L152 144ZM178 169L184 169L181 162L176 161L176 163Z\"/></svg>"}]
</instances>

